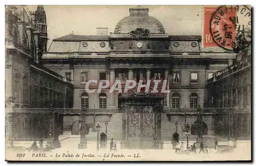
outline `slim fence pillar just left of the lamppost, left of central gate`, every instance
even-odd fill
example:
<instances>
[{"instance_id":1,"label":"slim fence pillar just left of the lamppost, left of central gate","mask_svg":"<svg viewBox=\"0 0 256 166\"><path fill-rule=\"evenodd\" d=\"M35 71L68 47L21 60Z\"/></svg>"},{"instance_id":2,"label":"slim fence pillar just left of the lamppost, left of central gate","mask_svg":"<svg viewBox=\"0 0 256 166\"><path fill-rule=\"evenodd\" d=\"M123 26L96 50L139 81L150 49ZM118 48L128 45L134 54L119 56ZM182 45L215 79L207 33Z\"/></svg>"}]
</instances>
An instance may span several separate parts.
<instances>
[{"instance_id":1,"label":"slim fence pillar just left of the lamppost, left of central gate","mask_svg":"<svg viewBox=\"0 0 256 166\"><path fill-rule=\"evenodd\" d=\"M86 140L86 109L84 106L81 109L81 132L80 132L80 143L78 144L78 149L87 149Z\"/></svg>"}]
</instances>

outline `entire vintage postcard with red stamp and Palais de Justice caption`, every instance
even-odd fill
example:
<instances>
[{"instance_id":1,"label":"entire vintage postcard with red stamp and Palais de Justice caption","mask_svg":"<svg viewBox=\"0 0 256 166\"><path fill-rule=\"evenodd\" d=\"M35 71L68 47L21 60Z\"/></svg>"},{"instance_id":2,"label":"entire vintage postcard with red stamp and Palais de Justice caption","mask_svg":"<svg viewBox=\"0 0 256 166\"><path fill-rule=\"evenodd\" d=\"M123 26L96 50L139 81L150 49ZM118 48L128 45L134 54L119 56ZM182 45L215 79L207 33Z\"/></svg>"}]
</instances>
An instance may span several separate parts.
<instances>
[{"instance_id":1,"label":"entire vintage postcard with red stamp and Palais de Justice caption","mask_svg":"<svg viewBox=\"0 0 256 166\"><path fill-rule=\"evenodd\" d=\"M5 14L6 160L251 160L250 6Z\"/></svg>"}]
</instances>

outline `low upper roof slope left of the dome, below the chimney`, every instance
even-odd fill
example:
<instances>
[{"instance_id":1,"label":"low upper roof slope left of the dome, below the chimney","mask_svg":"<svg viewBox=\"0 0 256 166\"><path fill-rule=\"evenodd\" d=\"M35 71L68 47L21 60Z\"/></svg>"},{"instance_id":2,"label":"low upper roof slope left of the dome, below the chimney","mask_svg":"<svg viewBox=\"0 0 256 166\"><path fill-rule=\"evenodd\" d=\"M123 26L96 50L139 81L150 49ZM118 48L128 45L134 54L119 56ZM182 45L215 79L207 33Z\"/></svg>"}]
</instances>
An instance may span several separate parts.
<instances>
[{"instance_id":1,"label":"low upper roof slope left of the dome, below the chimney","mask_svg":"<svg viewBox=\"0 0 256 166\"><path fill-rule=\"evenodd\" d=\"M81 41L81 40L109 40L110 36L101 36L101 35L66 35L53 41Z\"/></svg>"}]
</instances>

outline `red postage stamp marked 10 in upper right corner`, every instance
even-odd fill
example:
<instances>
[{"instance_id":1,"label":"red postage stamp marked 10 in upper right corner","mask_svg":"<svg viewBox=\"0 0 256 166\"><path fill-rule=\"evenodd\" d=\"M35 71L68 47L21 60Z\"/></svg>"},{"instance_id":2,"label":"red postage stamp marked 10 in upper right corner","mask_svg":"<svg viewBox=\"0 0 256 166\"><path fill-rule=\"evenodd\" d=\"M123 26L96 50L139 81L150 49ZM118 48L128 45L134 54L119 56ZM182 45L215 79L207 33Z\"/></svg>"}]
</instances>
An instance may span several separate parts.
<instances>
[{"instance_id":1,"label":"red postage stamp marked 10 in upper right corner","mask_svg":"<svg viewBox=\"0 0 256 166\"><path fill-rule=\"evenodd\" d=\"M203 47L230 50L236 40L236 8L204 7Z\"/></svg>"}]
</instances>

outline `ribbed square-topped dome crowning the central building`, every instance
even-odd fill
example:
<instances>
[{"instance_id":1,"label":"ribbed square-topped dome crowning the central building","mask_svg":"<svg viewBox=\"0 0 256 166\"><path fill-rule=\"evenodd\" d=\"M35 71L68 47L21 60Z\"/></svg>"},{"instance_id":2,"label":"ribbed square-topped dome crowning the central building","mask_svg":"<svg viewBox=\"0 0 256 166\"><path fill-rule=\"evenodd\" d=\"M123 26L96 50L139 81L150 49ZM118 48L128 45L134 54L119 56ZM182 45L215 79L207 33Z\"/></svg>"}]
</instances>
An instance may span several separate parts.
<instances>
[{"instance_id":1,"label":"ribbed square-topped dome crowning the central building","mask_svg":"<svg viewBox=\"0 0 256 166\"><path fill-rule=\"evenodd\" d=\"M148 8L130 8L130 16L122 18L114 34L128 34L137 28L147 29L150 34L165 34L164 27L155 17L148 16Z\"/></svg>"}]
</instances>

